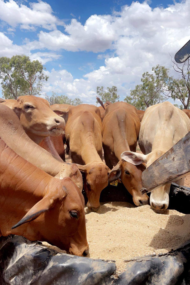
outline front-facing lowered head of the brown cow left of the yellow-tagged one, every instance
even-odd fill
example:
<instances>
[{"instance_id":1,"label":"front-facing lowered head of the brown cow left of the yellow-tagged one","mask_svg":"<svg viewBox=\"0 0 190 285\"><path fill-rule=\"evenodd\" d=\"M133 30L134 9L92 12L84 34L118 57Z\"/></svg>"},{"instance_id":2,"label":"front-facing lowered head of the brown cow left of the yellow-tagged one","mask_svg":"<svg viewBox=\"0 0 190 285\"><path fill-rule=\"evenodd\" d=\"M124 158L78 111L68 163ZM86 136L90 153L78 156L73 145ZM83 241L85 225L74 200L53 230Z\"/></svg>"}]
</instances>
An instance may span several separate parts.
<instances>
[{"instance_id":1,"label":"front-facing lowered head of the brown cow left of the yellow-tagged one","mask_svg":"<svg viewBox=\"0 0 190 285\"><path fill-rule=\"evenodd\" d=\"M109 167L102 164L77 164L79 170L84 172L84 189L88 198L87 207L91 211L98 211L100 207L100 193L108 186Z\"/></svg>"}]
</instances>

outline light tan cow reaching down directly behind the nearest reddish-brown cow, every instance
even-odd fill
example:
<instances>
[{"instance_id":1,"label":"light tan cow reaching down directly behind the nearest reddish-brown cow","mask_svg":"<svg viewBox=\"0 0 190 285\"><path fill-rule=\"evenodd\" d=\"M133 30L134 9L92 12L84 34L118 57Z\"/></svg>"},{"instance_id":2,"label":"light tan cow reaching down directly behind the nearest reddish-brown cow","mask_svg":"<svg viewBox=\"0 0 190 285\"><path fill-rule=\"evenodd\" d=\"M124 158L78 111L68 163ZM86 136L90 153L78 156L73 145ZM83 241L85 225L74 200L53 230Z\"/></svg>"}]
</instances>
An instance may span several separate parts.
<instances>
[{"instance_id":1,"label":"light tan cow reaching down directly behind the nearest reddish-brown cow","mask_svg":"<svg viewBox=\"0 0 190 285\"><path fill-rule=\"evenodd\" d=\"M34 143L24 132L17 115L7 106L0 104L0 137L19 156L46 173L63 179L70 177L82 192L82 175L76 164L58 161L49 152Z\"/></svg>"}]
</instances>

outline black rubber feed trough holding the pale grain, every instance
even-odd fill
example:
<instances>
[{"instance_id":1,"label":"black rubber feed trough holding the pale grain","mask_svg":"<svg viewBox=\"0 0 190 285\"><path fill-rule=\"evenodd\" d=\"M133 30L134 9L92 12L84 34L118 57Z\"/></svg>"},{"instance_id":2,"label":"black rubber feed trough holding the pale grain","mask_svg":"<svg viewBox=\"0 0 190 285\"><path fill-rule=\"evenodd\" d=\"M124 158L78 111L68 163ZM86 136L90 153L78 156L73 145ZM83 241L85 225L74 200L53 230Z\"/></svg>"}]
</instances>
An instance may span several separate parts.
<instances>
[{"instance_id":1,"label":"black rubber feed trough holding the pale grain","mask_svg":"<svg viewBox=\"0 0 190 285\"><path fill-rule=\"evenodd\" d=\"M102 201L115 201L113 187L103 191ZM172 184L170 192L170 206L189 213L190 188ZM129 201L122 184L118 194L119 201ZM115 263L57 253L24 237L0 238L1 285L190 285L190 241L164 255L126 260L126 271L118 277L115 270Z\"/></svg>"}]
</instances>

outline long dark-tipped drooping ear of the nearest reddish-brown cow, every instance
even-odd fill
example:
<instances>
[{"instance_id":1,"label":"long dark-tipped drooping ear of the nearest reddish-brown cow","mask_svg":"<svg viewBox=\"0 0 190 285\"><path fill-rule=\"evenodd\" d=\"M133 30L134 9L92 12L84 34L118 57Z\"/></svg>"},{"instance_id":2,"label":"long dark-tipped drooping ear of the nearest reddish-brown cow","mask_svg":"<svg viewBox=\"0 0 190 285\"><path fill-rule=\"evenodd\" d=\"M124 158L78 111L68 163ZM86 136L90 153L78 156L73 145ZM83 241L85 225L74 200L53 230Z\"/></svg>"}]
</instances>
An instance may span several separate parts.
<instances>
[{"instance_id":1,"label":"long dark-tipped drooping ear of the nearest reddish-brown cow","mask_svg":"<svg viewBox=\"0 0 190 285\"><path fill-rule=\"evenodd\" d=\"M40 200L38 203L36 203L29 211L28 213L11 229L15 229L24 223L31 222L42 213L48 211L50 208L54 206L56 198L52 198L50 196L44 196L42 200Z\"/></svg>"}]
</instances>

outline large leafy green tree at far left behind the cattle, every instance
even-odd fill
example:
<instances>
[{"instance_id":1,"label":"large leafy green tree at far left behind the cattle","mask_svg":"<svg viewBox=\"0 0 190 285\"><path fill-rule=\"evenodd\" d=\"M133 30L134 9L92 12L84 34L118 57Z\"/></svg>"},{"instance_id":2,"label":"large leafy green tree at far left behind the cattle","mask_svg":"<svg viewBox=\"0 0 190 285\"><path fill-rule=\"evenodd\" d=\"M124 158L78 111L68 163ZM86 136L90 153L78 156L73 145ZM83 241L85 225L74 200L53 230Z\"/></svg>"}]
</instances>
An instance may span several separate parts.
<instances>
[{"instance_id":1,"label":"large leafy green tree at far left behind the cattle","mask_svg":"<svg viewBox=\"0 0 190 285\"><path fill-rule=\"evenodd\" d=\"M31 61L28 56L16 55L0 58L0 79L3 97L17 99L21 95L39 95L44 75L43 65L38 60Z\"/></svg>"}]
</instances>

